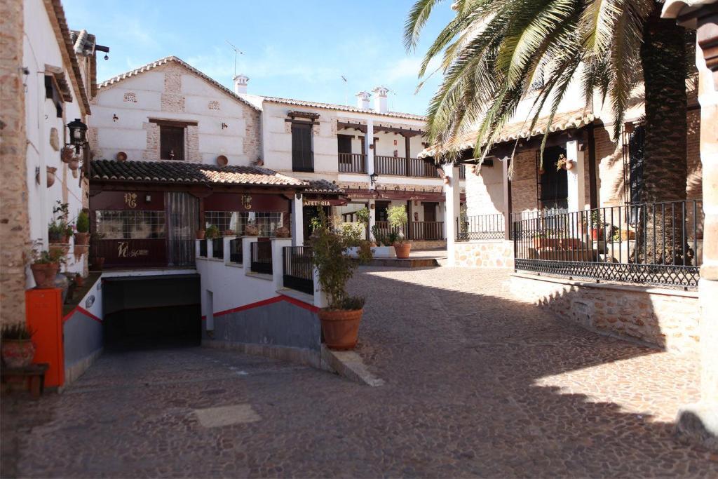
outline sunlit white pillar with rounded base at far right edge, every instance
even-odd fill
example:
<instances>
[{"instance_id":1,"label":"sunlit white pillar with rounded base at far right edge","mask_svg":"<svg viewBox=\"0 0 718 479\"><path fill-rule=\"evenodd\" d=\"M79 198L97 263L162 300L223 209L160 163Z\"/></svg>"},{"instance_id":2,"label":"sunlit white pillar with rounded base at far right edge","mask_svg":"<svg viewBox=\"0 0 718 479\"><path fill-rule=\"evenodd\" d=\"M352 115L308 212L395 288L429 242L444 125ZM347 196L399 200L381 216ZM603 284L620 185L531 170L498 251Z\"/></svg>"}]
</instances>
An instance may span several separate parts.
<instances>
[{"instance_id":1,"label":"sunlit white pillar with rounded base at far right edge","mask_svg":"<svg viewBox=\"0 0 718 479\"><path fill-rule=\"evenodd\" d=\"M679 411L679 436L718 452L718 11L708 0L686 7L668 0L664 18L686 15L684 27L696 28L696 68L701 104L701 165L703 167L703 265L698 284L701 304L701 399Z\"/></svg>"}]
</instances>

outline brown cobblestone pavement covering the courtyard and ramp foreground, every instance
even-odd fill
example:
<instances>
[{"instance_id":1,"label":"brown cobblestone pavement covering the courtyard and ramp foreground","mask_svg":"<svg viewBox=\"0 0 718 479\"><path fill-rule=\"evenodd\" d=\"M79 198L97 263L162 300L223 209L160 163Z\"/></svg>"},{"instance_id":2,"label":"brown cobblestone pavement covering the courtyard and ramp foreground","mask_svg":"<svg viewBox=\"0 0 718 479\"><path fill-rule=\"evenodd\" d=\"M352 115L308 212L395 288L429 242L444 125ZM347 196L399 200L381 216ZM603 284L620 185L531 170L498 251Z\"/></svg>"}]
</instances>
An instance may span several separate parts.
<instances>
[{"instance_id":1,"label":"brown cobblestone pavement covering the courtyard and ramp foreground","mask_svg":"<svg viewBox=\"0 0 718 479\"><path fill-rule=\"evenodd\" d=\"M106 353L65 394L3 401L2 475L718 477L672 435L696 358L554 320L507 279L363 269L378 388L224 350Z\"/></svg>"}]
</instances>

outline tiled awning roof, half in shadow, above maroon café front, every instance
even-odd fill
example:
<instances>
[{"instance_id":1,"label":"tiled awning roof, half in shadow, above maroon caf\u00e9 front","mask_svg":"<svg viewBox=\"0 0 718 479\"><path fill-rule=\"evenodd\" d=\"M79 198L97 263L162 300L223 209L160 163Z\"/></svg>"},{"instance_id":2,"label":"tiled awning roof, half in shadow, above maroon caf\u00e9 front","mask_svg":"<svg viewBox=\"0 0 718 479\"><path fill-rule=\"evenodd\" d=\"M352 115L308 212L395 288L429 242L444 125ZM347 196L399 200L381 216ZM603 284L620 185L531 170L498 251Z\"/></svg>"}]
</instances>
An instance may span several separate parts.
<instances>
[{"instance_id":1,"label":"tiled awning roof, half in shadow, above maroon caf\u00e9 front","mask_svg":"<svg viewBox=\"0 0 718 479\"><path fill-rule=\"evenodd\" d=\"M256 185L306 187L309 183L261 167L227 166L174 161L90 162L90 180L139 181L150 183L212 183L215 185Z\"/></svg>"}]
</instances>

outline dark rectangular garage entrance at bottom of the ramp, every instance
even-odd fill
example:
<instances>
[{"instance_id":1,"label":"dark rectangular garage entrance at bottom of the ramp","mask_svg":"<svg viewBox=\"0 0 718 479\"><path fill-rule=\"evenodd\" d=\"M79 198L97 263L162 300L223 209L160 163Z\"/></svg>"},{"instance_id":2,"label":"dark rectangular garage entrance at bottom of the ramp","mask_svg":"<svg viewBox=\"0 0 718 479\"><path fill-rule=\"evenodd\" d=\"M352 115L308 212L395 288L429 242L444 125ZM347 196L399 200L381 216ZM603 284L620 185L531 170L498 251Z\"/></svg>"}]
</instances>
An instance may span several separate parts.
<instances>
[{"instance_id":1,"label":"dark rectangular garage entrance at bottom of the ramp","mask_svg":"<svg viewBox=\"0 0 718 479\"><path fill-rule=\"evenodd\" d=\"M103 279L105 348L174 348L201 342L200 276Z\"/></svg>"}]
</instances>

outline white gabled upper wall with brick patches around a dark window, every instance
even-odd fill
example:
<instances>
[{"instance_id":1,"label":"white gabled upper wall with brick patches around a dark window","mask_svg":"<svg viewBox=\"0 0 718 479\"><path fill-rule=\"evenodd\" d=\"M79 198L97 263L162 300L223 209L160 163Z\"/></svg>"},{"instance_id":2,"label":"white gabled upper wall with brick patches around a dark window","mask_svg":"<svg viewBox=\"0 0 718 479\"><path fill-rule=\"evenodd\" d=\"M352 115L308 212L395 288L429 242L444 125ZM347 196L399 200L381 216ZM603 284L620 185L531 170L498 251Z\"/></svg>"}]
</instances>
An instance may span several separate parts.
<instances>
[{"instance_id":1,"label":"white gabled upper wall with brick patches around a dark window","mask_svg":"<svg viewBox=\"0 0 718 479\"><path fill-rule=\"evenodd\" d=\"M180 91L185 99L184 111L162 111L165 73L177 71L182 72ZM137 102L125 101L125 93L134 93ZM213 101L219 103L219 110L209 108ZM228 157L229 164L246 165L254 160L243 151L245 111L250 107L177 63L169 62L100 88L95 103L92 126L98 129L96 158L115 159L118 152L125 152L131 160L143 159L147 148L147 130L143 125L149 118L165 118L197 121L202 163L216 164L220 154ZM117 121L113 121L113 115L118 117ZM222 129L222 123L228 128ZM186 145L186 158L189 153Z\"/></svg>"}]
</instances>

